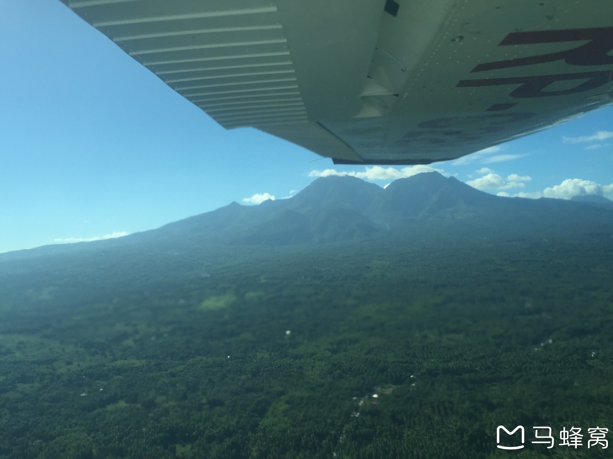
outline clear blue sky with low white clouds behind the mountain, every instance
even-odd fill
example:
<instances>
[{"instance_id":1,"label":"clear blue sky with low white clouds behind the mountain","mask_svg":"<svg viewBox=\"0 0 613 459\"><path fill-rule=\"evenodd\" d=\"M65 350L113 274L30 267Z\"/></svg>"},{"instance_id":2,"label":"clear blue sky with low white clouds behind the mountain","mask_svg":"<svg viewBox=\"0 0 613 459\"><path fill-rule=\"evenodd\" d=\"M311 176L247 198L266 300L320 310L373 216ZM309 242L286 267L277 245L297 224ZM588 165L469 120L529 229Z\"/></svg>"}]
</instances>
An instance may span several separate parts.
<instances>
[{"instance_id":1,"label":"clear blue sky with low white clouds behind the mountain","mask_svg":"<svg viewBox=\"0 0 613 459\"><path fill-rule=\"evenodd\" d=\"M0 0L0 59L0 252L279 199L322 174L384 186L434 168L495 194L613 196L613 108L430 168L367 169L224 130L58 0Z\"/></svg>"}]
</instances>

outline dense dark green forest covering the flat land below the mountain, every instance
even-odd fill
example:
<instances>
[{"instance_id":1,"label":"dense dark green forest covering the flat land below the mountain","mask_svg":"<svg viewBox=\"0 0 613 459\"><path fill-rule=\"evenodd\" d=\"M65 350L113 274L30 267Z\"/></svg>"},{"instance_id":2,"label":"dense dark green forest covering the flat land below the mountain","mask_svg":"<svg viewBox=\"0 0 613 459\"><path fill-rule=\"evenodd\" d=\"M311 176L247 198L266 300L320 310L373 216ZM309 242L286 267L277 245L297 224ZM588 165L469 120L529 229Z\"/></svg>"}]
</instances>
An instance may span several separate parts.
<instances>
[{"instance_id":1,"label":"dense dark green forest covering the flat land below the mountain","mask_svg":"<svg viewBox=\"0 0 613 459\"><path fill-rule=\"evenodd\" d=\"M610 451L611 237L174 250L7 269L0 458Z\"/></svg>"}]
</instances>

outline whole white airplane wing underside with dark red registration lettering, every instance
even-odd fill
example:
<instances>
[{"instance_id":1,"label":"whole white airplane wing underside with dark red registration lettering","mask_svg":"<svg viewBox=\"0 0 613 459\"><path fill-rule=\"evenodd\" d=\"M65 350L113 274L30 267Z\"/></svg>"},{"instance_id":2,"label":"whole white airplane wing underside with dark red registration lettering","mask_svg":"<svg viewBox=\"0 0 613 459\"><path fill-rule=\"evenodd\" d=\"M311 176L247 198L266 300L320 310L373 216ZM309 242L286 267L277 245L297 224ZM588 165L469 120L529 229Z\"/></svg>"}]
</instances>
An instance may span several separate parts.
<instances>
[{"instance_id":1,"label":"whole white airplane wing underside with dark red registration lettering","mask_svg":"<svg viewBox=\"0 0 613 459\"><path fill-rule=\"evenodd\" d=\"M613 100L609 0L62 0L226 129L424 164Z\"/></svg>"}]
</instances>

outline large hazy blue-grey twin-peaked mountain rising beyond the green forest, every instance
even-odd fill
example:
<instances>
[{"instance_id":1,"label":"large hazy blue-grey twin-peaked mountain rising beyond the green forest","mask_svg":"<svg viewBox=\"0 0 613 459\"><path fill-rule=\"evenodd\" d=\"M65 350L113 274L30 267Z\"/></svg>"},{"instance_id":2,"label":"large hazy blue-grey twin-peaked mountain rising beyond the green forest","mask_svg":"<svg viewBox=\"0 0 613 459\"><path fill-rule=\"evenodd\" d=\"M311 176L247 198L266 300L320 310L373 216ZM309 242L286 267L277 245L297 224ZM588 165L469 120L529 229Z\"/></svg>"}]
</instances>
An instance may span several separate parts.
<instances>
[{"instance_id":1,"label":"large hazy blue-grey twin-peaked mountain rising beyond the green forest","mask_svg":"<svg viewBox=\"0 0 613 459\"><path fill-rule=\"evenodd\" d=\"M514 239L611 234L609 203L601 196L571 201L504 198L436 172L398 179L385 189L356 177L321 177L294 198L259 206L231 203L156 230L9 252L0 261L155 244L282 246L453 235Z\"/></svg>"}]
</instances>

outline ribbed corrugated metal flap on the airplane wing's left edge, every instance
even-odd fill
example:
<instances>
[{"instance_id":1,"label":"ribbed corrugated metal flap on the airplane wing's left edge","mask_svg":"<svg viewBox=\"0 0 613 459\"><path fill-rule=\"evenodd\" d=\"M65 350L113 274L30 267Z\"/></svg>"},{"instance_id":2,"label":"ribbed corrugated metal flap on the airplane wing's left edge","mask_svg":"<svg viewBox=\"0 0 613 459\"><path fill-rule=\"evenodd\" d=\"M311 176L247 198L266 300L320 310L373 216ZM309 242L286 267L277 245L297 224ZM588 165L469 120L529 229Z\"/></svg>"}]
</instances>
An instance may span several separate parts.
<instances>
[{"instance_id":1,"label":"ribbed corrugated metal flap on the airplane wing's left edge","mask_svg":"<svg viewBox=\"0 0 613 459\"><path fill-rule=\"evenodd\" d=\"M308 122L270 1L64 2L227 129Z\"/></svg>"}]
</instances>

